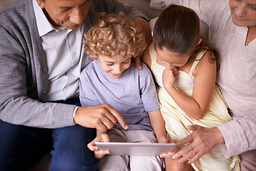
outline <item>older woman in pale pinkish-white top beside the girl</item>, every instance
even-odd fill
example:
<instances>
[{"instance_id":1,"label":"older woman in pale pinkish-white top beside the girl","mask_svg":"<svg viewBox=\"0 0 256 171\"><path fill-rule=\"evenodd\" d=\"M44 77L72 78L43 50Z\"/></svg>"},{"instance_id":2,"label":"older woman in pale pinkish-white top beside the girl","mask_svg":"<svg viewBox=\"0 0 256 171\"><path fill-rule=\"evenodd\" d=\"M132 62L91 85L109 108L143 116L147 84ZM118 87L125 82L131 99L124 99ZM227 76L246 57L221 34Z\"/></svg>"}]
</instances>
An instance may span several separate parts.
<instances>
[{"instance_id":1,"label":"older woman in pale pinkish-white top beside the girl","mask_svg":"<svg viewBox=\"0 0 256 171\"><path fill-rule=\"evenodd\" d=\"M217 84L232 120L215 128L188 126L193 133L173 155L193 163L216 145L225 157L240 155L242 171L256 170L256 0L151 0L151 7L180 4L209 26L210 43L220 53ZM158 4L159 3L159 4Z\"/></svg>"}]
</instances>

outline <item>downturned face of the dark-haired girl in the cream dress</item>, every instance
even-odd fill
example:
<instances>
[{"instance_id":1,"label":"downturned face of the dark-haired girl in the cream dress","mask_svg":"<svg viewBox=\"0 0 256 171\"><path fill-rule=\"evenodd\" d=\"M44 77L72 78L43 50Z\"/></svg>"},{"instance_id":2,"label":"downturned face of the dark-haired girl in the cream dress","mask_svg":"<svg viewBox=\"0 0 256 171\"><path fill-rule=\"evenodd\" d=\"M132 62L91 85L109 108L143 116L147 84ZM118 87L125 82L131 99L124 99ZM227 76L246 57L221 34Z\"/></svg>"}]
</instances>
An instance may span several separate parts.
<instances>
[{"instance_id":1,"label":"downturned face of the dark-haired girl in the cream dress","mask_svg":"<svg viewBox=\"0 0 256 171\"><path fill-rule=\"evenodd\" d=\"M178 68L184 66L188 59L190 58L190 53L180 54L169 51L167 48L163 47L161 50L160 48L155 48L156 52L156 62L161 66L165 66L165 68Z\"/></svg>"}]
</instances>

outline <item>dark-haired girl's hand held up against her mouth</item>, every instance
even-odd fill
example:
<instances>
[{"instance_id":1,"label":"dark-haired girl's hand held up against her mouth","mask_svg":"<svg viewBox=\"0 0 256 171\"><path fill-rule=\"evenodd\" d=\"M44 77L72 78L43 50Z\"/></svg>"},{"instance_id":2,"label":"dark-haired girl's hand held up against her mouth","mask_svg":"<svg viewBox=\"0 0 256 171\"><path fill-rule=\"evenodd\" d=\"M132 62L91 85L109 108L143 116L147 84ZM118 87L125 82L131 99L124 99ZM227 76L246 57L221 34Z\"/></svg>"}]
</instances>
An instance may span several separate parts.
<instances>
[{"instance_id":1,"label":"dark-haired girl's hand held up against her mouth","mask_svg":"<svg viewBox=\"0 0 256 171\"><path fill-rule=\"evenodd\" d=\"M177 68L165 68L163 71L163 87L168 90L173 86L175 79L178 77L179 71Z\"/></svg>"}]
</instances>

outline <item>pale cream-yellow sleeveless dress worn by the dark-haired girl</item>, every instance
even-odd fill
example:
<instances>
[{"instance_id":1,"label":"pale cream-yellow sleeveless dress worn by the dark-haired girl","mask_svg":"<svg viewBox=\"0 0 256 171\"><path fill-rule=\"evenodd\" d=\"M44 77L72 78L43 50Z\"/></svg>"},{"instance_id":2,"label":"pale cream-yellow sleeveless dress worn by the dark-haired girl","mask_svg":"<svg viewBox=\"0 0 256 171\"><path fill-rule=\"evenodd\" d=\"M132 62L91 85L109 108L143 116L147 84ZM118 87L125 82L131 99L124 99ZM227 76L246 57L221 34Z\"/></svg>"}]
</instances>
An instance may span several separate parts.
<instances>
[{"instance_id":1,"label":"pale cream-yellow sleeveless dress worn by the dark-haired girl","mask_svg":"<svg viewBox=\"0 0 256 171\"><path fill-rule=\"evenodd\" d=\"M163 88L162 75L165 67L156 63L153 43L150 44L149 51L151 56L150 69L153 73L155 82L158 85L157 90L160 101L160 110L165 119L165 128L170 140L177 141L188 136L191 133L187 128L188 125L200 125L209 128L232 119L227 111L227 105L222 98L222 94L217 85L215 85L210 106L203 118L195 120L186 115ZM186 95L192 96L193 81L195 78L193 72L204 53L205 52L198 53L198 56L195 58L193 66L190 69L190 73L179 71L178 78L175 80L175 88ZM200 157L200 160L195 162L192 166L194 170L203 171L240 170L239 162L240 158L238 156L226 159L225 156L222 155L220 148L215 147L213 150Z\"/></svg>"}]
</instances>

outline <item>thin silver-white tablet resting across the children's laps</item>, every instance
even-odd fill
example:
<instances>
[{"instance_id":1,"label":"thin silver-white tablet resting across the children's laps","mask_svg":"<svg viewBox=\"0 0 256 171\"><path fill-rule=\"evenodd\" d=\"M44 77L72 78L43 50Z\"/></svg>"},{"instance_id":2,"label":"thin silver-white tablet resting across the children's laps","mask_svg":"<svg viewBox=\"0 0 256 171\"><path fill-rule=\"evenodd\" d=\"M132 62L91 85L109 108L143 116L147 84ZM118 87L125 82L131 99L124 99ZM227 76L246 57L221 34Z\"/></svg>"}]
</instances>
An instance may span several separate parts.
<instances>
[{"instance_id":1,"label":"thin silver-white tablet resting across the children's laps","mask_svg":"<svg viewBox=\"0 0 256 171\"><path fill-rule=\"evenodd\" d=\"M110 150L109 155L154 155L172 152L175 143L95 142L100 150Z\"/></svg>"}]
</instances>

